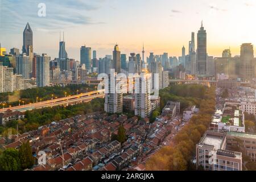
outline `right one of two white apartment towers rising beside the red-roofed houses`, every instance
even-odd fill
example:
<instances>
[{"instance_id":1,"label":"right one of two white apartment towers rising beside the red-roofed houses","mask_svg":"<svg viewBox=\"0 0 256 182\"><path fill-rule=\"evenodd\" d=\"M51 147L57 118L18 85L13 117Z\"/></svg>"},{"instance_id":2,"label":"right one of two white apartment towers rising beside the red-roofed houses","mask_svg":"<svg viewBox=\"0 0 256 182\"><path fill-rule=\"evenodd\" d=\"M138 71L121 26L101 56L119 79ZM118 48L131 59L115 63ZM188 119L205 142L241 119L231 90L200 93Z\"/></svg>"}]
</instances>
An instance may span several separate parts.
<instances>
[{"instance_id":1,"label":"right one of two white apartment towers rising beside the red-roofed houses","mask_svg":"<svg viewBox=\"0 0 256 182\"><path fill-rule=\"evenodd\" d=\"M150 73L142 72L138 78L135 78L135 115L142 118L150 116Z\"/></svg>"}]
</instances>

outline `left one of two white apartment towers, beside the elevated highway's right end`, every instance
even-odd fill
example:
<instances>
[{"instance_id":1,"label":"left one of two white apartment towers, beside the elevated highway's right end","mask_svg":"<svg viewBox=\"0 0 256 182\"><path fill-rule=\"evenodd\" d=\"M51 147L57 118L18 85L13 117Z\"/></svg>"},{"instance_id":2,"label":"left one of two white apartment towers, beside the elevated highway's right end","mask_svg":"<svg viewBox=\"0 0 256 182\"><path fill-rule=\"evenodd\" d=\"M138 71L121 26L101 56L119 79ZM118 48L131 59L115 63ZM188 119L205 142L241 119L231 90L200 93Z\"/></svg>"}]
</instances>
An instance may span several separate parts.
<instances>
[{"instance_id":1,"label":"left one of two white apartment towers, beside the elevated highway's right end","mask_svg":"<svg viewBox=\"0 0 256 182\"><path fill-rule=\"evenodd\" d=\"M106 111L106 113L122 113L123 93L118 93L115 89L115 85L117 85L120 81L122 80L121 78L117 77L117 72L114 73L114 76L109 76L109 93L105 93L104 104L104 110Z\"/></svg>"}]
</instances>

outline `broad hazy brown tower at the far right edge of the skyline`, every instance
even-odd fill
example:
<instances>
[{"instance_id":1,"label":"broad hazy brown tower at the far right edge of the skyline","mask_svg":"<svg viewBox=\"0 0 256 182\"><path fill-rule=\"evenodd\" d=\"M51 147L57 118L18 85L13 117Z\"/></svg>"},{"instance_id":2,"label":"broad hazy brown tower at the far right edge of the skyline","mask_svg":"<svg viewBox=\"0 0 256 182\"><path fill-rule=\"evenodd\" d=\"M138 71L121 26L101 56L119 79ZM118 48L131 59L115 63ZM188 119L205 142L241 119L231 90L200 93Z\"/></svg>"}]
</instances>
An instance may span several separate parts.
<instances>
[{"instance_id":1,"label":"broad hazy brown tower at the far right edge of the skyline","mask_svg":"<svg viewBox=\"0 0 256 182\"><path fill-rule=\"evenodd\" d=\"M255 63L253 45L251 43L242 44L240 58L240 77L243 79L253 78Z\"/></svg>"}]
</instances>

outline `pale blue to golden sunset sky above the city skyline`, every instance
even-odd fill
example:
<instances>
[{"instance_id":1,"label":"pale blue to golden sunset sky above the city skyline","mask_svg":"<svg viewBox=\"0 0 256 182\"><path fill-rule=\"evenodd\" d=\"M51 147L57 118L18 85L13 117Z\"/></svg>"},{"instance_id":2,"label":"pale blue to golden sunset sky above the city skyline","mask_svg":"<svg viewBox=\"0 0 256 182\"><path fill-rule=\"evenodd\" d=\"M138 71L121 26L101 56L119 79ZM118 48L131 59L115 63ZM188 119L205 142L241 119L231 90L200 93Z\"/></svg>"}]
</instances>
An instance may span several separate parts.
<instances>
[{"instance_id":1,"label":"pale blue to golden sunset sky above the city skyline","mask_svg":"<svg viewBox=\"0 0 256 182\"><path fill-rule=\"evenodd\" d=\"M39 3L46 16L38 16ZM209 56L221 56L230 47L240 55L242 43L256 43L254 0L0 0L0 43L22 49L27 24L33 31L34 52L52 59L59 52L60 31L65 32L69 58L80 59L80 47L92 47L97 57L111 55L117 43L121 53L146 56L168 52L180 56L191 32L203 20Z\"/></svg>"}]
</instances>

